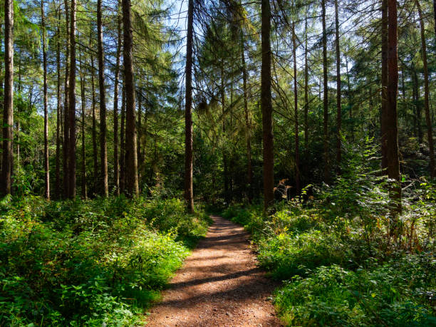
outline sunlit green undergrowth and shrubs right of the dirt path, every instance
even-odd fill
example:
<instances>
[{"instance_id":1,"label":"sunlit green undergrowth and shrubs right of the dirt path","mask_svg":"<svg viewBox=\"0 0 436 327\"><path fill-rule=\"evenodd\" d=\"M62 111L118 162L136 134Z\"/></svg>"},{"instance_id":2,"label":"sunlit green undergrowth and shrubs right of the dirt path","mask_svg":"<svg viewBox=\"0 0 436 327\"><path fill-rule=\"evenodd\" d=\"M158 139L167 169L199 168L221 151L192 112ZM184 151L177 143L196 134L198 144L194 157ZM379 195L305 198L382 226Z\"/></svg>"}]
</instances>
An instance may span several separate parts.
<instances>
[{"instance_id":1,"label":"sunlit green undergrowth and shrubs right of the dirt path","mask_svg":"<svg viewBox=\"0 0 436 327\"><path fill-rule=\"evenodd\" d=\"M348 151L332 187L310 187L268 218L256 205L223 213L284 281L275 304L289 326L436 326L435 186L405 180L403 213L390 214L372 156Z\"/></svg>"}]
</instances>

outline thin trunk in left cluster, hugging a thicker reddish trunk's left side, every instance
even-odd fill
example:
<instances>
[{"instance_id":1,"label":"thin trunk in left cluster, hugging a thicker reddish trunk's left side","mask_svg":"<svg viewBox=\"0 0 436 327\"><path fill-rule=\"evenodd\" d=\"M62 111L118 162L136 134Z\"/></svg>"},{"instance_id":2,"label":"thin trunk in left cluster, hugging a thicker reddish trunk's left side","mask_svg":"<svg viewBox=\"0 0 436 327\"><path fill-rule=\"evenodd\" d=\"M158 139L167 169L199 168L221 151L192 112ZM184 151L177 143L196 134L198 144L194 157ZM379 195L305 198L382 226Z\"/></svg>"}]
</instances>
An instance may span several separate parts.
<instances>
[{"instance_id":1,"label":"thin trunk in left cluster, hugging a thicker reddish trunk's left side","mask_svg":"<svg viewBox=\"0 0 436 327\"><path fill-rule=\"evenodd\" d=\"M64 98L63 98L63 197L68 198L68 182L70 180L68 169L68 142L69 142L69 120L68 120L68 108L69 108L69 91L70 91L70 14L68 0L64 1L65 4L65 21L66 21L66 53L65 53L65 84L64 88Z\"/></svg>"}]
</instances>

